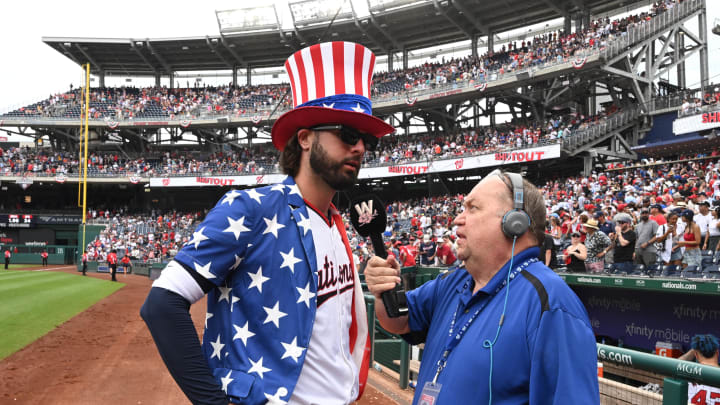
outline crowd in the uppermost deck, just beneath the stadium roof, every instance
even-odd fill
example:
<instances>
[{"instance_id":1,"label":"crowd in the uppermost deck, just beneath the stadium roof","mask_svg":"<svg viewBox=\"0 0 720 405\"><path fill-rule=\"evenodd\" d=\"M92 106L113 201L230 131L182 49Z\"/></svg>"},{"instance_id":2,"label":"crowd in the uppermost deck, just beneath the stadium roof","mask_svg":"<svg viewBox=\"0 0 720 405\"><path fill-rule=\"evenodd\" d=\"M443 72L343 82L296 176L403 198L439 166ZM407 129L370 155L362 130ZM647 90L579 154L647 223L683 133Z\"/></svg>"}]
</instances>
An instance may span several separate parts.
<instances>
[{"instance_id":1,"label":"crowd in the uppermost deck, just beneath the stadium roof","mask_svg":"<svg viewBox=\"0 0 720 405\"><path fill-rule=\"evenodd\" d=\"M681 3L661 0L648 11L610 20L593 21L587 29L564 33L551 32L532 39L503 44L478 57L452 58L426 62L417 67L375 74L373 97L397 97L408 91L434 88L445 84L487 81L530 67L567 62L580 51L602 49L608 41L622 37L628 27L644 24ZM90 116L94 119L169 118L192 119L207 114L244 115L270 110L281 100L280 110L290 107L287 84L233 87L196 86L168 89L96 88L90 94ZM80 117L80 90L51 95L48 99L21 107L6 117Z\"/></svg>"}]
</instances>

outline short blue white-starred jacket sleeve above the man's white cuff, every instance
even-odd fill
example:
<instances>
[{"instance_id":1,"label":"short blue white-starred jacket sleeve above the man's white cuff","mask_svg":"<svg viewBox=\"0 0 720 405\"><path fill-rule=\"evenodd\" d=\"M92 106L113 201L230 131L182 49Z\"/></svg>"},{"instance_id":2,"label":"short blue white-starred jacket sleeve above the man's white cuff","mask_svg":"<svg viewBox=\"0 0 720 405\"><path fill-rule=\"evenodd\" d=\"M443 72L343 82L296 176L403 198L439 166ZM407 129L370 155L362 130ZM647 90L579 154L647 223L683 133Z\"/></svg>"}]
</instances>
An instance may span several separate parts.
<instances>
[{"instance_id":1,"label":"short blue white-starred jacket sleeve above the man's white cuff","mask_svg":"<svg viewBox=\"0 0 720 405\"><path fill-rule=\"evenodd\" d=\"M231 190L195 228L192 239L175 256L188 269L219 286L238 267L256 232L254 189Z\"/></svg>"}]
</instances>

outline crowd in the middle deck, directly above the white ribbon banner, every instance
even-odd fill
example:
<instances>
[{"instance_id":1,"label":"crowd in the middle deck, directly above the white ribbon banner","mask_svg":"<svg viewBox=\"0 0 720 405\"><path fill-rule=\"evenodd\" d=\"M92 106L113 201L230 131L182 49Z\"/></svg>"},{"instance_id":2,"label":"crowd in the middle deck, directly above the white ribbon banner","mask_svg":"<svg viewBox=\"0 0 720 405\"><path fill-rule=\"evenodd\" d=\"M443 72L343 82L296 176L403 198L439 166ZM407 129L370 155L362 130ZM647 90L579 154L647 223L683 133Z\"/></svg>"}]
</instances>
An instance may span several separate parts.
<instances>
[{"instance_id":1,"label":"crowd in the middle deck, directly above the white ribbon banner","mask_svg":"<svg viewBox=\"0 0 720 405\"><path fill-rule=\"evenodd\" d=\"M495 128L464 128L451 134L431 136L387 136L377 150L366 153L370 166L449 159L527 148L567 138L577 131L601 123L615 113L614 106L592 117L558 115L536 125L502 125ZM243 175L278 171L277 151L268 144L256 144L231 152L145 152L131 157L118 152L91 152L89 176L182 176ZM0 175L55 176L78 173L76 152L28 147L0 148Z\"/></svg>"}]
</instances>

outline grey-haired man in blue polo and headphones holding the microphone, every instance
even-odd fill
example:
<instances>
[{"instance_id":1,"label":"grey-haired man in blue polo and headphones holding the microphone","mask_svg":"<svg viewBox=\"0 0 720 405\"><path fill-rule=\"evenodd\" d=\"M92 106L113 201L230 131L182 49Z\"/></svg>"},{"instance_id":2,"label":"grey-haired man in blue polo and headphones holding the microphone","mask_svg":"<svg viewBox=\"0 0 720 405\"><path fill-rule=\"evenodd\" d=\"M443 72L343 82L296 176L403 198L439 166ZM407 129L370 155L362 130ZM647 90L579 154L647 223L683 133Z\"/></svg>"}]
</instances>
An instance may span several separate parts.
<instances>
[{"instance_id":1,"label":"grey-haired man in blue polo and headphones holding the microphone","mask_svg":"<svg viewBox=\"0 0 720 405\"><path fill-rule=\"evenodd\" d=\"M375 306L383 328L412 344L425 342L413 404L599 404L587 312L537 261L545 202L529 182L523 188L527 232L515 238L503 232L513 185L508 174L491 173L455 220L464 266L407 292L406 316L389 318L384 305ZM378 299L398 274L394 258L373 257L365 269Z\"/></svg>"}]
</instances>

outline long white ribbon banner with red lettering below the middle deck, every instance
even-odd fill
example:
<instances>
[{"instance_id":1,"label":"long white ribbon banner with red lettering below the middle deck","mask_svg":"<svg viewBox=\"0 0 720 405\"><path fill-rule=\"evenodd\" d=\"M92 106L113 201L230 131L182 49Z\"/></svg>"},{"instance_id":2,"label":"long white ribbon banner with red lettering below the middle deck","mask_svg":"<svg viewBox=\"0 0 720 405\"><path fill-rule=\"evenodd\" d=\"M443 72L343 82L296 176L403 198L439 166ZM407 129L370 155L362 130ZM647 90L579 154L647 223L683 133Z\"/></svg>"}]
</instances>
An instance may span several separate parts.
<instances>
[{"instance_id":1,"label":"long white ribbon banner with red lettering below the middle deck","mask_svg":"<svg viewBox=\"0 0 720 405\"><path fill-rule=\"evenodd\" d=\"M458 157L407 163L400 165L363 167L361 179L377 179L384 177L423 175L428 173L453 172L482 167L496 167L516 163L538 162L560 157L560 144L538 146L536 148L518 149L486 155ZM274 184L283 181L283 174L252 175L252 176L197 176L197 177L153 177L150 187L205 187L205 186L256 186Z\"/></svg>"}]
</instances>

